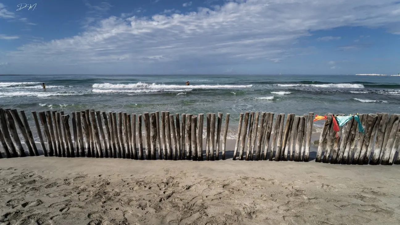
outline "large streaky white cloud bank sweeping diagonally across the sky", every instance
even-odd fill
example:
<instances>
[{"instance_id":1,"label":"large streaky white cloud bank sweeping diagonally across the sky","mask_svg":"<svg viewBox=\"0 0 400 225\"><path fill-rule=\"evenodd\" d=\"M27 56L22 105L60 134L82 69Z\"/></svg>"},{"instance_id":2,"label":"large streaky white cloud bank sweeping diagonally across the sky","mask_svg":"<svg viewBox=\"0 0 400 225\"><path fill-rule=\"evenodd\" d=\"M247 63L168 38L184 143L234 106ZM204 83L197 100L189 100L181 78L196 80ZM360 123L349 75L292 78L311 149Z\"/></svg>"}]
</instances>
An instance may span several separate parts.
<instances>
[{"instance_id":1,"label":"large streaky white cloud bank sweeping diagonally across the sky","mask_svg":"<svg viewBox=\"0 0 400 225\"><path fill-rule=\"evenodd\" d=\"M317 30L342 26L398 30L396 2L232 0L213 9L170 16L94 17L96 25L87 26L85 32L0 52L0 60L69 70L76 65L73 68L97 72L171 73L218 66L223 72L240 64L263 65L306 54L307 48L295 48L293 43Z\"/></svg>"}]
</instances>

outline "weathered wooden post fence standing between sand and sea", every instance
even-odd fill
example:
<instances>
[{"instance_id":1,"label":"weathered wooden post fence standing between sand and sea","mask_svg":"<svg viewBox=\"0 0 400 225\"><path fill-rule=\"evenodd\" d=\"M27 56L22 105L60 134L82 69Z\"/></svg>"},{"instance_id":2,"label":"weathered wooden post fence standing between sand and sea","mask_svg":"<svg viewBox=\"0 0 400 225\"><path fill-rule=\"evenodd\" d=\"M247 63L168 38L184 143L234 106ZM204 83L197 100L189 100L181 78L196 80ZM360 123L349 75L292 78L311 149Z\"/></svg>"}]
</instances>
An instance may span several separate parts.
<instances>
[{"instance_id":1,"label":"weathered wooden post fence standing between sand and sea","mask_svg":"<svg viewBox=\"0 0 400 225\"><path fill-rule=\"evenodd\" d=\"M32 112L40 146L46 157L136 160L214 161L220 156L224 160L229 116L229 113L225 116L224 133L221 134L223 114L207 113L204 156L204 114L170 115L170 112L163 111L160 121L159 111L141 115L95 110L72 112L71 115L57 111L39 112L38 115ZM358 132L357 122L351 119L340 128L338 136L333 130L332 116L336 115L328 114L322 127L316 162L400 164L400 115L359 115L365 133ZM285 114L278 114L274 119L271 112L240 113L233 160L309 161L313 119L312 112L303 116L288 114L286 122ZM0 142L4 155L7 158L26 156L17 127L29 156L38 156L24 110L18 114L16 109L0 108ZM144 135L141 135L142 129Z\"/></svg>"}]
</instances>

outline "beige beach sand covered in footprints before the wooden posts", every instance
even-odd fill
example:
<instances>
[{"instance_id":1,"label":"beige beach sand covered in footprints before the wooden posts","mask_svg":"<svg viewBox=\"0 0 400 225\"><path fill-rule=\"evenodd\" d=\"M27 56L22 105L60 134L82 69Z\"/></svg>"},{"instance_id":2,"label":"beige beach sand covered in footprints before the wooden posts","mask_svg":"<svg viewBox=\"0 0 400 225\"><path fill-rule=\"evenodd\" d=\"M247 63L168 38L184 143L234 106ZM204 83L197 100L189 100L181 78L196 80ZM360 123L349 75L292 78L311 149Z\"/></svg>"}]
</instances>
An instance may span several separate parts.
<instances>
[{"instance_id":1,"label":"beige beach sand covered in footprints before the wooden posts","mask_svg":"<svg viewBox=\"0 0 400 225\"><path fill-rule=\"evenodd\" d=\"M39 156L0 192L4 225L400 224L398 166Z\"/></svg>"}]
</instances>

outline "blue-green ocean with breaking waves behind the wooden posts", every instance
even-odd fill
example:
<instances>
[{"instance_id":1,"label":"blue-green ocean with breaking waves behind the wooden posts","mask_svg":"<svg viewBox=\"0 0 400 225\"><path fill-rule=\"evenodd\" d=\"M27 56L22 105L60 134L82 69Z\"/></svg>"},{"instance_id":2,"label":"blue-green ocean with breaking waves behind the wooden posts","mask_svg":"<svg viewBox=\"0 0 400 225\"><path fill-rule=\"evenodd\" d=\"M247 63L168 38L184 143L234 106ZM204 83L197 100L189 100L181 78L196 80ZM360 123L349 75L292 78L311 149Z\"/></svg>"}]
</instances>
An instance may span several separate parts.
<instances>
[{"instance_id":1,"label":"blue-green ocean with breaking waves behind the wooden posts","mask_svg":"<svg viewBox=\"0 0 400 225\"><path fill-rule=\"evenodd\" d=\"M400 76L3 75L0 107L25 110L32 125L30 111L45 110L230 113L234 137L246 111L399 113Z\"/></svg>"}]
</instances>

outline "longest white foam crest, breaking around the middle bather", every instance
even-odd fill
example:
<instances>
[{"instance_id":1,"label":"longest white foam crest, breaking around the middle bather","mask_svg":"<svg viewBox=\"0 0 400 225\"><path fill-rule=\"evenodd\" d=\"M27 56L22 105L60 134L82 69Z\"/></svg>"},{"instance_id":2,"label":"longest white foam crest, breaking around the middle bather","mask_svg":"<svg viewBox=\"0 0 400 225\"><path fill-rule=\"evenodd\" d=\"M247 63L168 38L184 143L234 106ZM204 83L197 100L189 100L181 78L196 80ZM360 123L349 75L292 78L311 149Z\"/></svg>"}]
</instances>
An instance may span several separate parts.
<instances>
[{"instance_id":1,"label":"longest white foam crest, breaking around the middle bather","mask_svg":"<svg viewBox=\"0 0 400 225\"><path fill-rule=\"evenodd\" d=\"M252 87L253 85L190 85L190 88L212 89L212 88L245 88ZM146 84L138 82L136 84L93 84L93 88L187 88L186 85L170 85L170 84Z\"/></svg>"}]
</instances>

